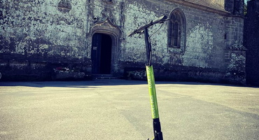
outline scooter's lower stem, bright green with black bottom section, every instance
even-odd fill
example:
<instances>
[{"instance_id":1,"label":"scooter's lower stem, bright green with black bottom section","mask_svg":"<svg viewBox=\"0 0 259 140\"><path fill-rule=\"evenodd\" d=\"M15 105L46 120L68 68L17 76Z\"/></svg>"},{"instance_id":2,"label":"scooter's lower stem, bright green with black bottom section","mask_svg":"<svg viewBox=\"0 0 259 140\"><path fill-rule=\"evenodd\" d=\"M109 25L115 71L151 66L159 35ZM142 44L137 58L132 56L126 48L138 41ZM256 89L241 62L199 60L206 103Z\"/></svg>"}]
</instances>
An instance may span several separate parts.
<instances>
[{"instance_id":1,"label":"scooter's lower stem, bright green with black bottom section","mask_svg":"<svg viewBox=\"0 0 259 140\"><path fill-rule=\"evenodd\" d=\"M158 99L155 92L155 78L154 78L153 66L146 66L146 73L148 78L148 91L149 91L149 96L151 100L151 112L152 112L152 118L153 118L153 131L154 131L153 140L163 140L161 125L159 120L159 113L158 113Z\"/></svg>"}]
</instances>

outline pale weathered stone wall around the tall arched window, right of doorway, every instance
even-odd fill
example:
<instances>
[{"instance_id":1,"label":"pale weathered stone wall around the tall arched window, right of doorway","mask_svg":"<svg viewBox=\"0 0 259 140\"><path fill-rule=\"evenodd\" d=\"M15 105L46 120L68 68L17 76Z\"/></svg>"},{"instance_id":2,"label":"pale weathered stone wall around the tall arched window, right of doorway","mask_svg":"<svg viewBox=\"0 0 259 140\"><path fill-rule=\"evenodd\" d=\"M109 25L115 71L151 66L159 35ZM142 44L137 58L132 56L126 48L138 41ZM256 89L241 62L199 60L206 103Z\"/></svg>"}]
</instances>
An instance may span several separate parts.
<instances>
[{"instance_id":1,"label":"pale weathered stone wall around the tall arched window, right of doorway","mask_svg":"<svg viewBox=\"0 0 259 140\"><path fill-rule=\"evenodd\" d=\"M225 20L222 16L213 13L207 13L195 8L180 6L171 3L152 3L146 1L144 6L140 3L127 3L125 10L125 29L129 34L137 27L144 25L160 15L169 16L175 8L181 8L186 15L186 46L183 46L184 52L179 48L167 47L167 29L168 23L162 25L162 28L152 38L153 43L153 62L160 64L178 64L186 66L200 66L209 68L223 67L224 52L224 34ZM166 9L166 10L165 10ZM136 12L137 11L137 12ZM161 12L163 11L163 12ZM155 25L149 29L150 34L160 28L161 25ZM125 46L122 46L123 52L130 55L120 57L124 61L145 62L146 48L144 36L133 36L125 38ZM137 53L138 52L138 53Z\"/></svg>"}]
</instances>

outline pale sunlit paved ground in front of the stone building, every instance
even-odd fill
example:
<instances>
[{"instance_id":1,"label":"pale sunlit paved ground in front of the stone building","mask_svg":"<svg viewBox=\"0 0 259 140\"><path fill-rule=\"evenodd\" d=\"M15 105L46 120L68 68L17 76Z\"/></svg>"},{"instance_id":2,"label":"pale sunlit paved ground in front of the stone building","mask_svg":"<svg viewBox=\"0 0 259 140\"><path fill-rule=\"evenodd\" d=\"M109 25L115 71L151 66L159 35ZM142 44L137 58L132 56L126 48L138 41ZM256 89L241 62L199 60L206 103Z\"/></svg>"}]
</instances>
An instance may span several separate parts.
<instances>
[{"instance_id":1,"label":"pale sunlit paved ground in front of the stone building","mask_svg":"<svg viewBox=\"0 0 259 140\"><path fill-rule=\"evenodd\" d=\"M156 83L164 139L259 139L259 88ZM0 139L152 136L145 81L0 83Z\"/></svg>"}]
</instances>

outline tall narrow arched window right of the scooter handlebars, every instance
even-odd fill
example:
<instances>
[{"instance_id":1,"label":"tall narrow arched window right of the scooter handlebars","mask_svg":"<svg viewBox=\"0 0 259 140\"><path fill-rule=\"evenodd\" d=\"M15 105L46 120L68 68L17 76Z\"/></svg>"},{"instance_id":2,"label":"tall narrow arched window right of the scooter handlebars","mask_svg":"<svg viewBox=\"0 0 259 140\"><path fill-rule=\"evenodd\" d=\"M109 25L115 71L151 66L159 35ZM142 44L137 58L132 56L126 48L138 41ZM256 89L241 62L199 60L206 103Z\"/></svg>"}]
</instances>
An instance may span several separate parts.
<instances>
[{"instance_id":1,"label":"tall narrow arched window right of the scooter handlebars","mask_svg":"<svg viewBox=\"0 0 259 140\"><path fill-rule=\"evenodd\" d=\"M168 27L168 47L184 48L186 44L186 18L179 8L170 14Z\"/></svg>"}]
</instances>

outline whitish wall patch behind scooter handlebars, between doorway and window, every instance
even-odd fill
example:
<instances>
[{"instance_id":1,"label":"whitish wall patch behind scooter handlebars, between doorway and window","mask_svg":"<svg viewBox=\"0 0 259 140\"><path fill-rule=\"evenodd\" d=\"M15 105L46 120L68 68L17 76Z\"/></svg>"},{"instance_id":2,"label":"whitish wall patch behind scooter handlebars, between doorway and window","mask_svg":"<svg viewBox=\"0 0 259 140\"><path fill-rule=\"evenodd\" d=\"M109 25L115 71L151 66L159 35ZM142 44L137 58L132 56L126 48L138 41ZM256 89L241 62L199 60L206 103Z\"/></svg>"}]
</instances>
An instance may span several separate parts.
<instances>
[{"instance_id":1,"label":"whitish wall patch behind scooter handlebars, between doorway and window","mask_svg":"<svg viewBox=\"0 0 259 140\"><path fill-rule=\"evenodd\" d=\"M138 2L127 3L125 9L125 33L130 34L134 29L148 24L152 20L159 18L160 15L152 10L146 9ZM149 34L152 35L160 29L161 25L154 25L148 28ZM151 37L153 62L165 64L168 62L167 53L167 26L162 25L161 29ZM126 45L122 48L124 54L121 59L132 62L147 62L146 45L144 34L135 34L132 37L126 37Z\"/></svg>"}]
</instances>

